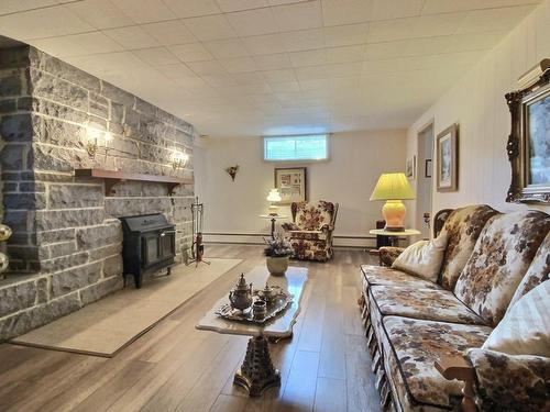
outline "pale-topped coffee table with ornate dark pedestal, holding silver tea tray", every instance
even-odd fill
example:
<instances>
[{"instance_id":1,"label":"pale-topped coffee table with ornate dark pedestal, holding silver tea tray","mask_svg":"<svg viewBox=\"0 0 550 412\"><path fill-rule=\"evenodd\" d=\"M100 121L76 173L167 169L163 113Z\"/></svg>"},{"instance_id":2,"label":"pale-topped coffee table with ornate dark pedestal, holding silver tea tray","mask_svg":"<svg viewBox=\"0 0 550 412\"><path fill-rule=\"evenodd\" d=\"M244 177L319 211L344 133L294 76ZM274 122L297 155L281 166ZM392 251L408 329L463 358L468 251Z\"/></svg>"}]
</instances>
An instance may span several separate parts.
<instances>
[{"instance_id":1,"label":"pale-topped coffee table with ornate dark pedestal, holding silver tea tray","mask_svg":"<svg viewBox=\"0 0 550 412\"><path fill-rule=\"evenodd\" d=\"M244 360L237 371L233 382L246 389L251 397L258 397L267 388L280 385L280 374L273 366L268 339L277 342L293 335L293 326L300 312L301 292L308 276L307 269L301 267L289 267L285 276L275 277L270 276L265 266L256 266L244 277L249 283L253 282L254 289L262 289L266 282L270 286L283 288L294 296L293 302L277 318L263 325L255 325L218 316L215 312L222 304L229 302L228 296L224 296L213 304L212 309L195 327L201 331L252 336L246 347Z\"/></svg>"}]
</instances>

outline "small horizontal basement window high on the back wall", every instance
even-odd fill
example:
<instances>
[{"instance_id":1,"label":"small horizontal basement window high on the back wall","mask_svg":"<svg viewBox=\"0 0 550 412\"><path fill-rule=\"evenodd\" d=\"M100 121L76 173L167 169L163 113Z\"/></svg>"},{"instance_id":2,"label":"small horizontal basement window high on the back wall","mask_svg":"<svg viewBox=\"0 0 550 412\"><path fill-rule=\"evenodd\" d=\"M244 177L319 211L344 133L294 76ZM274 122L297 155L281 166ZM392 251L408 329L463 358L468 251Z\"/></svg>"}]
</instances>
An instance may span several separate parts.
<instances>
[{"instance_id":1,"label":"small horizontal basement window high on the back wall","mask_svg":"<svg viewBox=\"0 0 550 412\"><path fill-rule=\"evenodd\" d=\"M264 160L327 160L329 138L327 134L299 136L264 136Z\"/></svg>"}]
</instances>

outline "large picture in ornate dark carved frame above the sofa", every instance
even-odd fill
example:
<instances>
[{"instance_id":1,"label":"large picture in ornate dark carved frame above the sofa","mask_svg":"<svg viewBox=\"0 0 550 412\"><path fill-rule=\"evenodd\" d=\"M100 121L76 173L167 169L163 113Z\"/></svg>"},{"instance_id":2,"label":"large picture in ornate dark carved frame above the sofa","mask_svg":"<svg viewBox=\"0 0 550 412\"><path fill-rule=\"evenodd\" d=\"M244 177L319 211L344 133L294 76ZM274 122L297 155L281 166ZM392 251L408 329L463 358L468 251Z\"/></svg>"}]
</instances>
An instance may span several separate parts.
<instances>
[{"instance_id":1,"label":"large picture in ornate dark carved frame above the sofa","mask_svg":"<svg viewBox=\"0 0 550 412\"><path fill-rule=\"evenodd\" d=\"M550 59L539 66L536 81L506 94L512 114L507 202L550 203Z\"/></svg>"}]
</instances>

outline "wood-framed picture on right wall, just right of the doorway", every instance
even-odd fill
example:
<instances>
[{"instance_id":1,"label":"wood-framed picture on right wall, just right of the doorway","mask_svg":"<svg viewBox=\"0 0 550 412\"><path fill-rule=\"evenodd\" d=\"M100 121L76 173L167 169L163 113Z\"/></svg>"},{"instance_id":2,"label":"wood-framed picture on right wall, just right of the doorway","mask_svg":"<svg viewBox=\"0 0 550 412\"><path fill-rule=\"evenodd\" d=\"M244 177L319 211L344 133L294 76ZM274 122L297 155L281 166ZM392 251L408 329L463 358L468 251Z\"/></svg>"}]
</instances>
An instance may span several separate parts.
<instances>
[{"instance_id":1,"label":"wood-framed picture on right wall, just right of the doorway","mask_svg":"<svg viewBox=\"0 0 550 412\"><path fill-rule=\"evenodd\" d=\"M437 179L438 191L457 191L459 188L459 127L453 124L438 134Z\"/></svg>"}]
</instances>

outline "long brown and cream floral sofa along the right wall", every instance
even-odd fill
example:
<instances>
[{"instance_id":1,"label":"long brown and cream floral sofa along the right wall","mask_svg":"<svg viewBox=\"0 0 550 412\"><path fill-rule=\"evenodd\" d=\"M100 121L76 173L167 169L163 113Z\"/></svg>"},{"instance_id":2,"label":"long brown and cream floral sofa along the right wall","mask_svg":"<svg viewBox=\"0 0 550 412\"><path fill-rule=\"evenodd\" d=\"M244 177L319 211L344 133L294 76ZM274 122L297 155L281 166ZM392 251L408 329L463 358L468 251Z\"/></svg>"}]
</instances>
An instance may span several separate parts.
<instances>
[{"instance_id":1,"label":"long brown and cream floral sofa along the right wall","mask_svg":"<svg viewBox=\"0 0 550 412\"><path fill-rule=\"evenodd\" d=\"M549 230L550 216L540 211L471 205L444 222L437 282L361 267L359 303L386 410L550 411L550 358L481 349L508 308L548 280ZM466 387L447 379L459 370L446 369L448 358L471 371Z\"/></svg>"}]
</instances>

